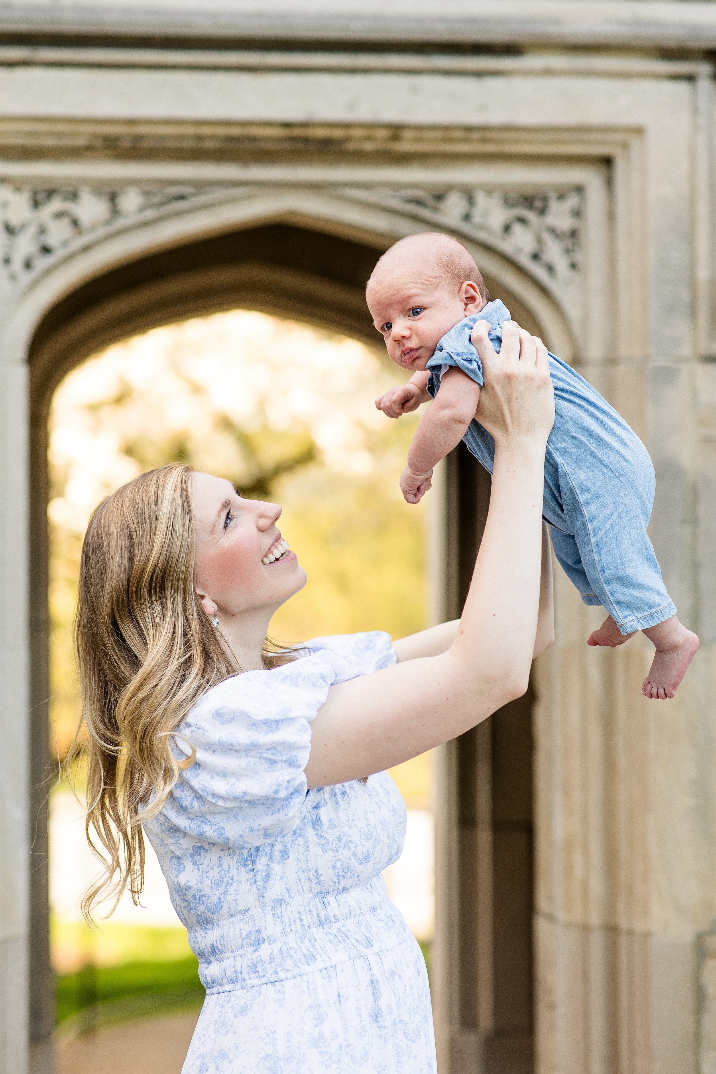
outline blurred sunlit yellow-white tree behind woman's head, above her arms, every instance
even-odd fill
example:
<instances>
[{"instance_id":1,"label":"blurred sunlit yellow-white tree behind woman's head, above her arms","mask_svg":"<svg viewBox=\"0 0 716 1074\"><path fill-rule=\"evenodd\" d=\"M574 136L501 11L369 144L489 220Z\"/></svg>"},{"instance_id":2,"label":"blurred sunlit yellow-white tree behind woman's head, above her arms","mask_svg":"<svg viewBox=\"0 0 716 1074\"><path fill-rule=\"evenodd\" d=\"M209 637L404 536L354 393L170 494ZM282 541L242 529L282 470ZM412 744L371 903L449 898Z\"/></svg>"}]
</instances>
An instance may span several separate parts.
<instances>
[{"instance_id":1,"label":"blurred sunlit yellow-white tree behind woman's head, above her arms","mask_svg":"<svg viewBox=\"0 0 716 1074\"><path fill-rule=\"evenodd\" d=\"M244 310L152 330L65 378L49 451L58 758L79 717L71 623L87 519L102 496L166 462L283 505L281 531L309 584L275 616L280 640L422 628L423 505L398 489L417 416L392 422L372 403L395 378L355 340Z\"/></svg>"}]
</instances>

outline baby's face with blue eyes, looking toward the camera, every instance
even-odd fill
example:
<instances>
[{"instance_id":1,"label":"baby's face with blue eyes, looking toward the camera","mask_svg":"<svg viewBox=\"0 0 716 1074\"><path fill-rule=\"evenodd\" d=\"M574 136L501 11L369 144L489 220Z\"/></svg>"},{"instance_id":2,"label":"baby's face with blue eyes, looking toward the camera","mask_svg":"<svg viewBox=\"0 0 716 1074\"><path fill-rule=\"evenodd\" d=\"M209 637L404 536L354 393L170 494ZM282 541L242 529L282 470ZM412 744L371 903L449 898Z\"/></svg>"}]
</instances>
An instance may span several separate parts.
<instances>
[{"instance_id":1,"label":"baby's face with blue eyes, looking toward the camera","mask_svg":"<svg viewBox=\"0 0 716 1074\"><path fill-rule=\"evenodd\" d=\"M421 278L412 271L386 273L370 281L366 299L372 323L396 365L424 369L445 332L468 311L478 313L480 301L477 308L466 309L464 288L435 277Z\"/></svg>"}]
</instances>

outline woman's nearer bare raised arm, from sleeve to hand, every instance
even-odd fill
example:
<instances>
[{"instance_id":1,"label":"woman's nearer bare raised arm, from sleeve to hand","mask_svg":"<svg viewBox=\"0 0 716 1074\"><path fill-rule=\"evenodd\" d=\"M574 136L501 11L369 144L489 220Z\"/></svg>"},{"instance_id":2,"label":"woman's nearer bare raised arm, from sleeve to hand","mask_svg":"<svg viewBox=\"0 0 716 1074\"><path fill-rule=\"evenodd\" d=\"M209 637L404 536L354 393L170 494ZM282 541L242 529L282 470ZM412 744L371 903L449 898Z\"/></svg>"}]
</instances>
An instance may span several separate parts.
<instances>
[{"instance_id":1,"label":"woman's nearer bare raised arm, from sleeve to hand","mask_svg":"<svg viewBox=\"0 0 716 1074\"><path fill-rule=\"evenodd\" d=\"M543 344L514 322L485 373L478 417L495 438L489 511L455 638L435 656L332 686L312 724L308 785L346 783L408 760L527 688L540 608L544 450L554 394Z\"/></svg>"}]
</instances>

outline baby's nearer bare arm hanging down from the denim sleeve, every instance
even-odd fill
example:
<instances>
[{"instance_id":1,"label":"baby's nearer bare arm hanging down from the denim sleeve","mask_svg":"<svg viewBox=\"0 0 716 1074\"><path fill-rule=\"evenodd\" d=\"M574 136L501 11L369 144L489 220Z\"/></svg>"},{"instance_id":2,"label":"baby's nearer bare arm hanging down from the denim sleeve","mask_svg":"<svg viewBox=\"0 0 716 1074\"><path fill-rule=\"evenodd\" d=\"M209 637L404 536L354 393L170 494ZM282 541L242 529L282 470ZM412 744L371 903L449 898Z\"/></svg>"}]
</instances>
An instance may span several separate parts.
<instances>
[{"instance_id":1,"label":"baby's nearer bare arm hanging down from the denim sleeve","mask_svg":"<svg viewBox=\"0 0 716 1074\"><path fill-rule=\"evenodd\" d=\"M465 436L479 398L480 384L462 369L451 366L441 377L440 391L421 419L400 478L400 489L409 504L423 498L430 488L433 468Z\"/></svg>"}]
</instances>

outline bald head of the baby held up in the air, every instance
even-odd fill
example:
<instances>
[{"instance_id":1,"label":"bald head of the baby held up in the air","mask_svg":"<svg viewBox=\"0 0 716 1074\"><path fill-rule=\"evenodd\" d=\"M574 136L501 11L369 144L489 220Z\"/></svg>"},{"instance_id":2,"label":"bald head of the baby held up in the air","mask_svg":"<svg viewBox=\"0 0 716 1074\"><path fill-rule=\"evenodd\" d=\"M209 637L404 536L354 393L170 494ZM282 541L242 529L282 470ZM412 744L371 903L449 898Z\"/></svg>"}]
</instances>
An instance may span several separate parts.
<instances>
[{"instance_id":1,"label":"bald head of the baby held up in the air","mask_svg":"<svg viewBox=\"0 0 716 1074\"><path fill-rule=\"evenodd\" d=\"M445 332L478 314L489 293L462 243L425 232L401 238L383 253L366 300L395 364L424 369Z\"/></svg>"}]
</instances>

